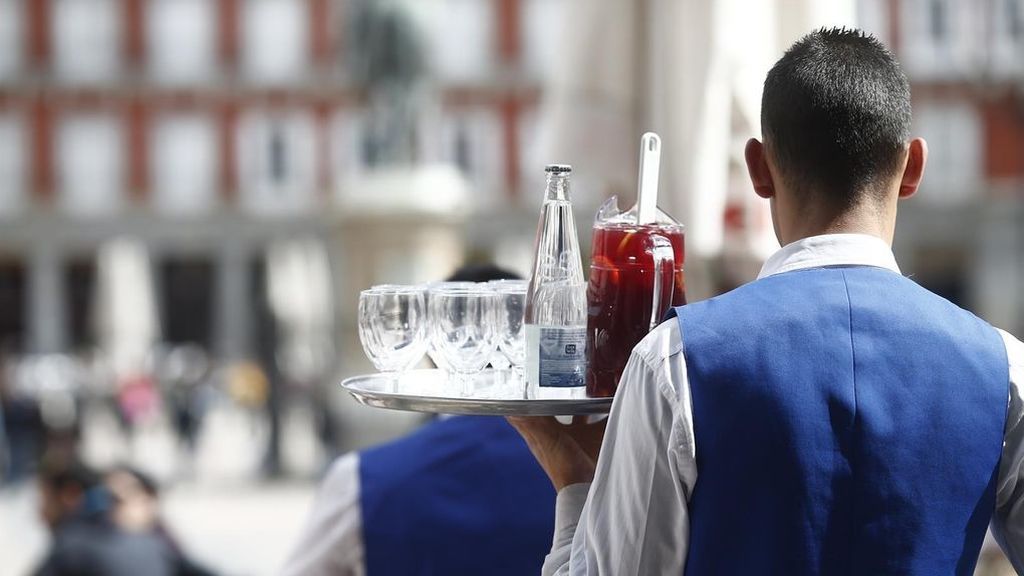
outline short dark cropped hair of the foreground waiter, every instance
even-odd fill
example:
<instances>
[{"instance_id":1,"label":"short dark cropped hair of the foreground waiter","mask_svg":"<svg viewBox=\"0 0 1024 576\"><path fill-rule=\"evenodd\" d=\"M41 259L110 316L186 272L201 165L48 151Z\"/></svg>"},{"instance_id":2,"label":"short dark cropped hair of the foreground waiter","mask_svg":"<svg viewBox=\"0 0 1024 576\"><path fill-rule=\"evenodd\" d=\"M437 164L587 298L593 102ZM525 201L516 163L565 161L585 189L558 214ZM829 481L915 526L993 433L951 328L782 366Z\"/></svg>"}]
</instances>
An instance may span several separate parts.
<instances>
[{"instance_id":1,"label":"short dark cropped hair of the foreground waiter","mask_svg":"<svg viewBox=\"0 0 1024 576\"><path fill-rule=\"evenodd\" d=\"M879 198L899 169L910 138L910 87L872 36L821 29L768 73L761 129L786 184L847 208Z\"/></svg>"}]
</instances>

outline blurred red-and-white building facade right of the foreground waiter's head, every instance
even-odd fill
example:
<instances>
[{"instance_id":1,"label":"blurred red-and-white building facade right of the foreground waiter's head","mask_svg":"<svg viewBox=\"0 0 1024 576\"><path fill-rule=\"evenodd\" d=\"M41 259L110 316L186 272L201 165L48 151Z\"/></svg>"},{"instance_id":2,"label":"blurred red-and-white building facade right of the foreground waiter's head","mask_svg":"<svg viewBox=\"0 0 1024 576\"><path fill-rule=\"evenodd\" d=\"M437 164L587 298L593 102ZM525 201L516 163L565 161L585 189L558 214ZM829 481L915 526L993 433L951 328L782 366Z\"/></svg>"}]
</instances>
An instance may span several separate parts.
<instances>
[{"instance_id":1,"label":"blurred red-and-white building facade right of the foreground waiter's head","mask_svg":"<svg viewBox=\"0 0 1024 576\"><path fill-rule=\"evenodd\" d=\"M859 0L861 25L903 64L929 143L900 212L906 273L1024 332L1024 1Z\"/></svg>"}]
</instances>

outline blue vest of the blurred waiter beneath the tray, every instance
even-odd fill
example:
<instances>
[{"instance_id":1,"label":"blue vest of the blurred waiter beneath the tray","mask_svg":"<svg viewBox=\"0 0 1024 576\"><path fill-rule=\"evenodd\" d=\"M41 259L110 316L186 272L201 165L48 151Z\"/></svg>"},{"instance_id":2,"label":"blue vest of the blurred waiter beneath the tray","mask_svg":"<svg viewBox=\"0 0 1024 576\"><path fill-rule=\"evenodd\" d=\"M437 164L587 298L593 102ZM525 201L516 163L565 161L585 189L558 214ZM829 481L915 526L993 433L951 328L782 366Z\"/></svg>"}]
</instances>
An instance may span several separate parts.
<instances>
[{"instance_id":1,"label":"blue vest of the blurred waiter beneath the tray","mask_svg":"<svg viewBox=\"0 0 1024 576\"><path fill-rule=\"evenodd\" d=\"M540 574L555 491L500 417L427 424L359 459L368 576Z\"/></svg>"}]
</instances>

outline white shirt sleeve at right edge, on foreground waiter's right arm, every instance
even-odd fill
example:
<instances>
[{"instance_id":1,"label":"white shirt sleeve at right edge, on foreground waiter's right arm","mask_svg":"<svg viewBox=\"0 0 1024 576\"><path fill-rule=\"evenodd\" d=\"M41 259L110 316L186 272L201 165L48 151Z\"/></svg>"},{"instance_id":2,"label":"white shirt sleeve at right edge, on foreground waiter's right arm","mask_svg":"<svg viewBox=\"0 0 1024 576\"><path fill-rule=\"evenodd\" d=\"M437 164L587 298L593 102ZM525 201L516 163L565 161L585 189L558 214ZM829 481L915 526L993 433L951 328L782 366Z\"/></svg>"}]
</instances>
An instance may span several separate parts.
<instances>
[{"instance_id":1,"label":"white shirt sleeve at right edge, on foreground waiter's right arm","mask_svg":"<svg viewBox=\"0 0 1024 576\"><path fill-rule=\"evenodd\" d=\"M1024 343L999 330L1010 362L1010 400L999 461L992 535L1018 574L1024 574Z\"/></svg>"}]
</instances>

